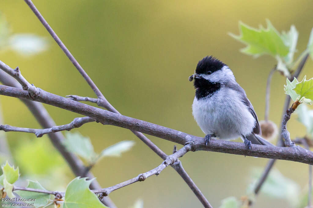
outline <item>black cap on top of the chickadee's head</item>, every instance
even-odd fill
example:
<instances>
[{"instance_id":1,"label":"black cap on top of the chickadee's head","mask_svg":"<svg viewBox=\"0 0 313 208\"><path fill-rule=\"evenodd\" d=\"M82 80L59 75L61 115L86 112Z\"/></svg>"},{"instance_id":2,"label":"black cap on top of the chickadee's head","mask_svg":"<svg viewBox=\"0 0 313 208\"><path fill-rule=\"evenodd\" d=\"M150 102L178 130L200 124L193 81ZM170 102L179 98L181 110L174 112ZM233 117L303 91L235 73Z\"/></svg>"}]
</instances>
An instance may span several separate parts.
<instances>
[{"instance_id":1,"label":"black cap on top of the chickadee's head","mask_svg":"<svg viewBox=\"0 0 313 208\"><path fill-rule=\"evenodd\" d=\"M206 56L202 60L199 60L196 68L196 73L205 74L207 71L214 72L222 69L222 67L225 65L226 64L213 56Z\"/></svg>"}]
</instances>

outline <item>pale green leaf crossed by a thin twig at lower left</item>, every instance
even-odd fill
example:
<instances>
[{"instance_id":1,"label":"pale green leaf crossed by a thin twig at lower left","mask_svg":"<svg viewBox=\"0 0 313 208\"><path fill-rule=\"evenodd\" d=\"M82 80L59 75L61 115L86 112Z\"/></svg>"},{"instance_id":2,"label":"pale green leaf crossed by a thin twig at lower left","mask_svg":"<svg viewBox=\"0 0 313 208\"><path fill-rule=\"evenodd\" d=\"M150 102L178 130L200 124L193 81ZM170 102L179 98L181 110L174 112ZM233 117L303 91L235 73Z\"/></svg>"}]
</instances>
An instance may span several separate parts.
<instances>
[{"instance_id":1,"label":"pale green leaf crossed by a thin twig at lower left","mask_svg":"<svg viewBox=\"0 0 313 208\"><path fill-rule=\"evenodd\" d=\"M44 187L42 187L38 181L31 181L31 180L27 180L27 181L28 181L27 188L45 190ZM38 193L38 192L32 192L32 191L22 191L22 190L17 190L14 192L17 193L23 199L35 199L35 201L33 203L34 203L34 206L36 208L41 207L41 206L45 206L46 204L48 204L48 201L50 199L50 195L45 194L45 193Z\"/></svg>"}]
</instances>

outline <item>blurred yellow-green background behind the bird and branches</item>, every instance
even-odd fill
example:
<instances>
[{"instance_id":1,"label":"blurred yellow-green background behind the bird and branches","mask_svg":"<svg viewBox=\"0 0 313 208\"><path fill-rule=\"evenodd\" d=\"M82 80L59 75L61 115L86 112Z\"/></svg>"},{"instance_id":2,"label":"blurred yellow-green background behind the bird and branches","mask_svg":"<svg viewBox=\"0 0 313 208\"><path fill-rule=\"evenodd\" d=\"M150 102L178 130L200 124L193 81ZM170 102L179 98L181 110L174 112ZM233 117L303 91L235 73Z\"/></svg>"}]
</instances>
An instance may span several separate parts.
<instances>
[{"instance_id":1,"label":"blurred yellow-green background behind the bird and branches","mask_svg":"<svg viewBox=\"0 0 313 208\"><path fill-rule=\"evenodd\" d=\"M204 136L191 114L194 97L188 82L204 56L213 55L228 64L238 83L245 89L259 120L264 119L264 98L267 75L276 61L269 56L257 59L239 52L244 45L228 36L239 34L238 21L258 27L268 18L278 31L289 30L294 24L299 31L298 52L307 44L313 27L312 1L39 1L34 4L50 26L83 66L109 102L122 114ZM12 51L0 53L0 59L12 68L20 67L23 76L46 91L60 96L78 94L95 97L63 51L49 36L28 6L22 1L2 0L0 11L7 18L13 33L45 36L49 50L35 56L21 56ZM300 80L313 76L312 60L308 60ZM285 94L285 78L275 73L271 88L270 119L280 126ZM28 109L15 98L1 97L4 123L39 128ZM69 123L78 114L45 105L58 125ZM305 128L293 116L288 123L291 137L304 136ZM93 168L102 187L108 187L146 172L162 162L154 152L127 129L83 125L79 131L91 138L96 152L122 140L136 145L120 158L105 158ZM36 138L27 133L6 133L13 154L27 150L29 160L36 157L34 147L41 145L58 157L47 137ZM170 154L174 143L148 136L164 152ZM238 140L239 141L239 140ZM26 151L27 152L27 151ZM53 153L54 152L54 153ZM24 157L24 156L23 156ZM26 156L25 156L26 157ZM38 158L37 158L38 160ZM19 166L21 160L15 160ZM60 158L53 170L66 176L50 174L45 180L64 187L74 178ZM188 153L181 159L184 168L213 207L228 196L246 194L251 169L264 167L267 159L244 157L217 152ZM45 162L48 167L49 163ZM278 161L282 174L307 187L308 166ZM27 170L28 169L28 170ZM36 169L36 168L35 168ZM38 169L38 168L37 168ZM62 171L61 171L62 169ZM47 168L47 171L49 169ZM41 174L42 170L21 167L22 175ZM49 170L51 172L51 170ZM51 178L49 178L51 177ZM58 178L58 180L56 180ZM37 178L37 180L39 180ZM57 184L57 185L56 185ZM111 199L118 207L128 207L140 198L145 207L201 207L201 203L180 176L171 168L114 191ZM290 207L288 201L260 194L254 207Z\"/></svg>"}]
</instances>

